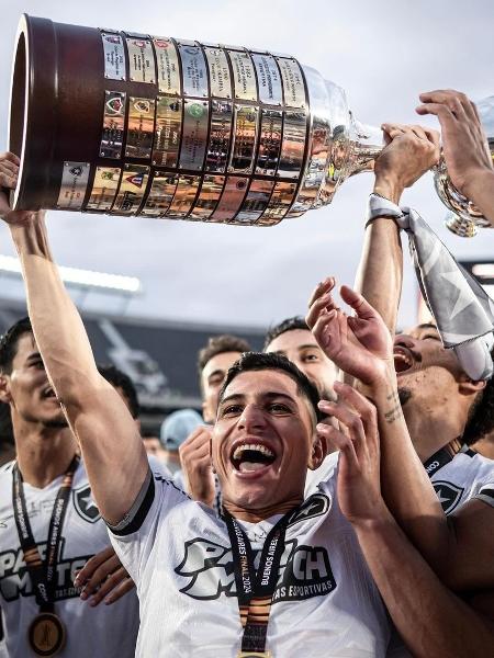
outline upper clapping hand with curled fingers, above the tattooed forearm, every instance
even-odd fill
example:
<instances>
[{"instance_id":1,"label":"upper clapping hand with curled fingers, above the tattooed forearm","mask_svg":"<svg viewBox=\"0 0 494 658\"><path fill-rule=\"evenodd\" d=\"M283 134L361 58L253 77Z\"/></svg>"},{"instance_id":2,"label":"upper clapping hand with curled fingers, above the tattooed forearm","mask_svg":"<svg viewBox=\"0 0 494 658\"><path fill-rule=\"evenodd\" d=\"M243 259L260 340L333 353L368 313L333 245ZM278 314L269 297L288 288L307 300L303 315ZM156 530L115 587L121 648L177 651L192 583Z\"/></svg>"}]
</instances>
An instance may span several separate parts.
<instances>
[{"instance_id":1,"label":"upper clapping hand with curled fingers, above the tattooed forearm","mask_svg":"<svg viewBox=\"0 0 494 658\"><path fill-rule=\"evenodd\" d=\"M333 277L318 284L305 321L321 349L338 367L363 384L379 384L393 365L391 334L362 295L344 285L341 299L356 313L348 317L333 299L334 287Z\"/></svg>"}]
</instances>

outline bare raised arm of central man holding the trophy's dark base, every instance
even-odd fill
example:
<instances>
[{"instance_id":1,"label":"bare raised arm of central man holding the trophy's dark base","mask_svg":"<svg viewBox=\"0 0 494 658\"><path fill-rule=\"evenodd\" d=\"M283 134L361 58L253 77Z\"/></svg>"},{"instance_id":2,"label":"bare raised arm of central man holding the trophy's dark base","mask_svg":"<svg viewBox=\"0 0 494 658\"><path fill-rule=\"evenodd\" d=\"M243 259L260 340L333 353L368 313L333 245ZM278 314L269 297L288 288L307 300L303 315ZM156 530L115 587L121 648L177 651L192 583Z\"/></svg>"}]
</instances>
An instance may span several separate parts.
<instances>
[{"instance_id":1,"label":"bare raised arm of central man holding the trophy's dark base","mask_svg":"<svg viewBox=\"0 0 494 658\"><path fill-rule=\"evenodd\" d=\"M14 188L16 161L0 157L3 185ZM82 320L52 259L44 213L0 214L10 224L24 276L27 309L48 377L80 442L91 489L105 520L117 524L132 509L148 473L136 424L94 363Z\"/></svg>"}]
</instances>

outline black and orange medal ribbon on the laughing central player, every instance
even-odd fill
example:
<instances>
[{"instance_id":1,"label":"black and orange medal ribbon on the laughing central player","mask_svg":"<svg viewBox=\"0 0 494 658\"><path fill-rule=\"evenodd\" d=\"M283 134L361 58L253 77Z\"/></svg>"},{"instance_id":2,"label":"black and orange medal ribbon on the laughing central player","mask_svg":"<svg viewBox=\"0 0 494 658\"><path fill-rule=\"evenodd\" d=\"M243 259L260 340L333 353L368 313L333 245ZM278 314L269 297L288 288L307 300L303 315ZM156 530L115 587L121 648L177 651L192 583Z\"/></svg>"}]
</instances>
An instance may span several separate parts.
<instances>
[{"instance_id":1,"label":"black and orange medal ribbon on the laughing central player","mask_svg":"<svg viewBox=\"0 0 494 658\"><path fill-rule=\"evenodd\" d=\"M266 636L272 595L278 582L278 571L284 551L284 535L293 510L284 514L271 529L265 540L259 559L259 568L254 566L254 551L249 538L226 510L224 520L232 544L232 554L237 586L238 610L244 627L240 656L255 653L266 654Z\"/></svg>"}]
</instances>

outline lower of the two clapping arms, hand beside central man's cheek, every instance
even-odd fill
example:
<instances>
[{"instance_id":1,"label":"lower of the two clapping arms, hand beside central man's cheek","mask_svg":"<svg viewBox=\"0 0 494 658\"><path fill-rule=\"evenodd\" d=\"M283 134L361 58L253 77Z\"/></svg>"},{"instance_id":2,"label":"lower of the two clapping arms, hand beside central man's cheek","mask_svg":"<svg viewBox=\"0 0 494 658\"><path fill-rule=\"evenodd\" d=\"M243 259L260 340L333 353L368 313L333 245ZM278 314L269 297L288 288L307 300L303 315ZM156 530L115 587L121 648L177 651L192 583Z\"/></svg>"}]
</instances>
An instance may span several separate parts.
<instances>
[{"instance_id":1,"label":"lower of the two clapping arms, hand beside central man's cheek","mask_svg":"<svg viewBox=\"0 0 494 658\"><path fill-rule=\"evenodd\" d=\"M338 502L356 531L390 615L417 658L484 658L494 646L490 614L449 591L390 513L380 490L380 444L373 406L350 386L335 384L338 402L321 402L339 421L319 433L340 450ZM461 623L459 623L461 620Z\"/></svg>"}]
</instances>

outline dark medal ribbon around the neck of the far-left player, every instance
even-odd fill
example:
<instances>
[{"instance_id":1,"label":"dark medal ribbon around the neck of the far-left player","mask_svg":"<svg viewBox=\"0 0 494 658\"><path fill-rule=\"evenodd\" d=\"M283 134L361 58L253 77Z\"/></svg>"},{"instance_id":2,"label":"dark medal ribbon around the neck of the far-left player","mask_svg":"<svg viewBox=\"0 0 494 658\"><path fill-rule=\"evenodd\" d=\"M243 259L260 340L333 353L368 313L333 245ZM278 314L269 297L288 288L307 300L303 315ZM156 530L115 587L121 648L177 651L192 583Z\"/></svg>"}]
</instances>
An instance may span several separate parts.
<instances>
[{"instance_id":1,"label":"dark medal ribbon around the neck of the far-left player","mask_svg":"<svg viewBox=\"0 0 494 658\"><path fill-rule=\"evenodd\" d=\"M79 456L75 455L66 470L58 489L55 504L49 520L48 538L46 544L46 558L42 560L40 549L34 541L31 523L25 504L24 483L18 464L12 470L12 499L15 525L18 526L19 541L24 554L27 572L34 587L36 603L41 612L53 612L55 601L55 580L58 549L60 545L61 529L72 487L74 474L79 464Z\"/></svg>"}]
</instances>

